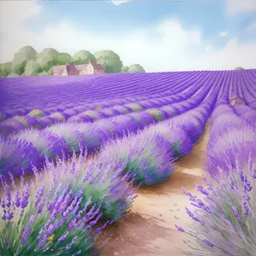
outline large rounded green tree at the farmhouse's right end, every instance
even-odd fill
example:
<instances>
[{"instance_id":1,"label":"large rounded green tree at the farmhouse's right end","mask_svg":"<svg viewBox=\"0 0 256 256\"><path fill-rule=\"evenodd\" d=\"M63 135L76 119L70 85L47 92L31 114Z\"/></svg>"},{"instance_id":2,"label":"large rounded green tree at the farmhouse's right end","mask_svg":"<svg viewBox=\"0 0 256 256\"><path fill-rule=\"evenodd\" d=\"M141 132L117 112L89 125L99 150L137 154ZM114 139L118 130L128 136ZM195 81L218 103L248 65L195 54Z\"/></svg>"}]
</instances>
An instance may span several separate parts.
<instances>
[{"instance_id":1,"label":"large rounded green tree at the farmhouse's right end","mask_svg":"<svg viewBox=\"0 0 256 256\"><path fill-rule=\"evenodd\" d=\"M94 54L96 57L96 63L101 64L105 70L105 73L121 73L123 62L120 60L119 55L113 52L113 50L100 50Z\"/></svg>"}]
</instances>

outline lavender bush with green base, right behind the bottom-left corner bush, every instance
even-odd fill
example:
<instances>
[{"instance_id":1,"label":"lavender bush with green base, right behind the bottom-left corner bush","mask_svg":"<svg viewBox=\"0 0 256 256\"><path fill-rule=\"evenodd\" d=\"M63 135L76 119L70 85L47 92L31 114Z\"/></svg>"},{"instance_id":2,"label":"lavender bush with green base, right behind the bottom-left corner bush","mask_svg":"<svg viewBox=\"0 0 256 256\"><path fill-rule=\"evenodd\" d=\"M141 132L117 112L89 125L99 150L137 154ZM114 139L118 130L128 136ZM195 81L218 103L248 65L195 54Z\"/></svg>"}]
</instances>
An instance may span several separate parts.
<instances>
[{"instance_id":1,"label":"lavender bush with green base, right behind the bottom-left corner bush","mask_svg":"<svg viewBox=\"0 0 256 256\"><path fill-rule=\"evenodd\" d=\"M63 156L57 159L56 165L46 160L44 170L48 178L56 180L55 186L58 181L63 183L64 188L72 186L74 195L83 189L79 210L90 199L89 208L94 204L101 206L102 218L118 221L131 209L137 196L138 186L131 187L134 178L129 174L121 177L125 163L119 160L87 160L82 148L80 152L78 158L73 151L72 158L66 160Z\"/></svg>"}]
</instances>

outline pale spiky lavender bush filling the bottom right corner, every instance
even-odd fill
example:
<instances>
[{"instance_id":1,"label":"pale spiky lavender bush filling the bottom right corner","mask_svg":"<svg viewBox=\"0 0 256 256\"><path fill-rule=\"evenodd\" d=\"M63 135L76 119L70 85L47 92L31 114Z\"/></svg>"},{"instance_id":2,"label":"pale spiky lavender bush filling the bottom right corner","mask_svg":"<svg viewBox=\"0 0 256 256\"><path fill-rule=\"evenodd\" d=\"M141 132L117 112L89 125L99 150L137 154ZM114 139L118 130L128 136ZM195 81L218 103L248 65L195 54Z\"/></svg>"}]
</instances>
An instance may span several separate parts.
<instances>
[{"instance_id":1,"label":"pale spiky lavender bush filling the bottom right corner","mask_svg":"<svg viewBox=\"0 0 256 256\"><path fill-rule=\"evenodd\" d=\"M230 175L218 168L218 178L209 182L207 188L197 185L203 199L189 196L192 212L186 208L193 224L186 229L176 225L177 230L189 237L186 255L195 256L254 256L256 252L256 159L249 154L241 165L236 154L236 166L230 166Z\"/></svg>"}]
</instances>

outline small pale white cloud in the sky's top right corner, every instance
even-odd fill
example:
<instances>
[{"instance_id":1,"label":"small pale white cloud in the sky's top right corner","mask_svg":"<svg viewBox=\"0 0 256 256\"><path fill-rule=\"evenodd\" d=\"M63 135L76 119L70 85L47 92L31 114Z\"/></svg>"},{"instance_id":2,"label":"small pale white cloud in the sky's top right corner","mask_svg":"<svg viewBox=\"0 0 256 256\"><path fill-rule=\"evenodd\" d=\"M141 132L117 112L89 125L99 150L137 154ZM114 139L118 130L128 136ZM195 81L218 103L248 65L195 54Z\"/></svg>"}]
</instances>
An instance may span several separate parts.
<instances>
[{"instance_id":1,"label":"small pale white cloud in the sky's top right corner","mask_svg":"<svg viewBox=\"0 0 256 256\"><path fill-rule=\"evenodd\" d=\"M255 0L226 0L227 10L230 15L236 15L243 12L255 12Z\"/></svg>"}]
</instances>

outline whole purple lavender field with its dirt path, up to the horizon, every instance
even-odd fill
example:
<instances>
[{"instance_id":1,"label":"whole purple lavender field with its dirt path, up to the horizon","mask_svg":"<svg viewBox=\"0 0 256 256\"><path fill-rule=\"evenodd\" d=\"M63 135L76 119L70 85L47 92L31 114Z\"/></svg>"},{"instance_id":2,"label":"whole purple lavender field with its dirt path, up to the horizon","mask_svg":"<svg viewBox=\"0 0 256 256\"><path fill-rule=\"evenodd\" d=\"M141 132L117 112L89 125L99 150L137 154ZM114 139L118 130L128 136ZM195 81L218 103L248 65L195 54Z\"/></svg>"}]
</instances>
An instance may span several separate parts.
<instances>
[{"instance_id":1,"label":"whole purple lavender field with its dirt path, up to the horizon","mask_svg":"<svg viewBox=\"0 0 256 256\"><path fill-rule=\"evenodd\" d=\"M255 189L256 69L0 79L0 256L255 256Z\"/></svg>"}]
</instances>

